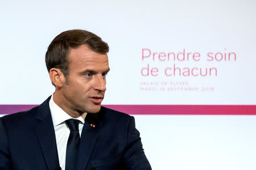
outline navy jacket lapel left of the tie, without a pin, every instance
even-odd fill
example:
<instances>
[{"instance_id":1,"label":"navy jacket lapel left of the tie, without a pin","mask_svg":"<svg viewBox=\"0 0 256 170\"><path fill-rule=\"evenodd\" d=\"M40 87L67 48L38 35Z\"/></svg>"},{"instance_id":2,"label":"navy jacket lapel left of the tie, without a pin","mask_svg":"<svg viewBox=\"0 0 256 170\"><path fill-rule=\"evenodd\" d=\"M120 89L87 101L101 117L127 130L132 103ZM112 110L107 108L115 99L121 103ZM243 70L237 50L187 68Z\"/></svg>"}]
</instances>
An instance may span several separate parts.
<instances>
[{"instance_id":1,"label":"navy jacket lapel left of the tie, without a pin","mask_svg":"<svg viewBox=\"0 0 256 170\"><path fill-rule=\"evenodd\" d=\"M57 154L55 131L52 123L51 111L49 110L49 99L50 97L39 106L38 112L36 113L36 118L38 120L35 128L47 167L51 170L58 169L60 165Z\"/></svg>"}]
</instances>

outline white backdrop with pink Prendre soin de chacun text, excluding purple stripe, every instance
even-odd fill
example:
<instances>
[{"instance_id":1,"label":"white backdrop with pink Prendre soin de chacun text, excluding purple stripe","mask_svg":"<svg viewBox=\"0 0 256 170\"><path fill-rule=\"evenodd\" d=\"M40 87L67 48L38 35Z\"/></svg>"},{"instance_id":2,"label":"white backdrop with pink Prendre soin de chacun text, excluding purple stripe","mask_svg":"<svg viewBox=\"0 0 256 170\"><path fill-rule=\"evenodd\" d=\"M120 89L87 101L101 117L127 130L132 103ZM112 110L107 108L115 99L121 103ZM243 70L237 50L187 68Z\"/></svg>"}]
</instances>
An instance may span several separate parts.
<instances>
[{"instance_id":1,"label":"white backdrop with pink Prendre soin de chacun text, excluding purple stripe","mask_svg":"<svg viewBox=\"0 0 256 170\"><path fill-rule=\"evenodd\" d=\"M40 104L51 95L47 46L60 32L79 28L110 46L103 104L255 105L255 9L249 0L0 2L0 104ZM142 49L151 56L142 60ZM163 57L184 49L185 57L197 53L200 61ZM217 58L207 61L209 52ZM220 53L236 59L221 60ZM143 76L147 65L158 75ZM189 75L165 75L174 65L181 72L188 68ZM193 76L195 67L214 67L217 75ZM135 115L135 120L153 169L256 169L255 116Z\"/></svg>"}]
</instances>

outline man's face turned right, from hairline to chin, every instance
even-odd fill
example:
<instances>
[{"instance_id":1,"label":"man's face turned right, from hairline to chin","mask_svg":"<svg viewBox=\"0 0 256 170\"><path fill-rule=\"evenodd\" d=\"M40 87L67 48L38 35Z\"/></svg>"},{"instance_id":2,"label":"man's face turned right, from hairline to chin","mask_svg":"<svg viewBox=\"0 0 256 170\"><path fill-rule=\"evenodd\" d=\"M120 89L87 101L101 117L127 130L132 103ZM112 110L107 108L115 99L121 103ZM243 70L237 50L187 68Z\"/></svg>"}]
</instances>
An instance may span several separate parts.
<instances>
[{"instance_id":1,"label":"man's face turned right, from hairline to chin","mask_svg":"<svg viewBox=\"0 0 256 170\"><path fill-rule=\"evenodd\" d=\"M109 71L107 54L90 50L87 45L69 50L69 74L61 88L61 103L70 111L97 113L106 91Z\"/></svg>"}]
</instances>

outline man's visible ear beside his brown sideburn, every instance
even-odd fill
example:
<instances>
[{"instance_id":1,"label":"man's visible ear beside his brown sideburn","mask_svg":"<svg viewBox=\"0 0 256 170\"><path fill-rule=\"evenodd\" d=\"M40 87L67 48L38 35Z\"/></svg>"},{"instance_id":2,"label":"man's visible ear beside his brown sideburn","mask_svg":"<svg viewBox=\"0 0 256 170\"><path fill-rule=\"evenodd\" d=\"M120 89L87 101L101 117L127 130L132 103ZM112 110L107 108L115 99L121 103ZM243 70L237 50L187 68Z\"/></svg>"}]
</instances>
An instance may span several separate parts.
<instances>
[{"instance_id":1,"label":"man's visible ear beside his brown sideburn","mask_svg":"<svg viewBox=\"0 0 256 170\"><path fill-rule=\"evenodd\" d=\"M65 76L60 69L52 68L49 70L49 77L55 87L62 87L65 83Z\"/></svg>"}]
</instances>

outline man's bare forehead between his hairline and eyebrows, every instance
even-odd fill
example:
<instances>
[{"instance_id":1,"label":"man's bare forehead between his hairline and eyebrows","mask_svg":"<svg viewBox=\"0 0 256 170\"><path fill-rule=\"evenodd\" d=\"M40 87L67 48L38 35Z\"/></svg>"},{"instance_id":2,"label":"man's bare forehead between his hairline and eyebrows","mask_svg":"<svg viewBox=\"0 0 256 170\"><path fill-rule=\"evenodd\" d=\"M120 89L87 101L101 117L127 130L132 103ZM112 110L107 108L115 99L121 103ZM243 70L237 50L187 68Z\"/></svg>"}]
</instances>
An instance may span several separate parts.
<instances>
[{"instance_id":1,"label":"man's bare forehead between his hairline and eyebrows","mask_svg":"<svg viewBox=\"0 0 256 170\"><path fill-rule=\"evenodd\" d=\"M69 69L80 69L80 67L106 69L109 64L107 54L96 53L86 44L71 48L68 53L68 62Z\"/></svg>"}]
</instances>

